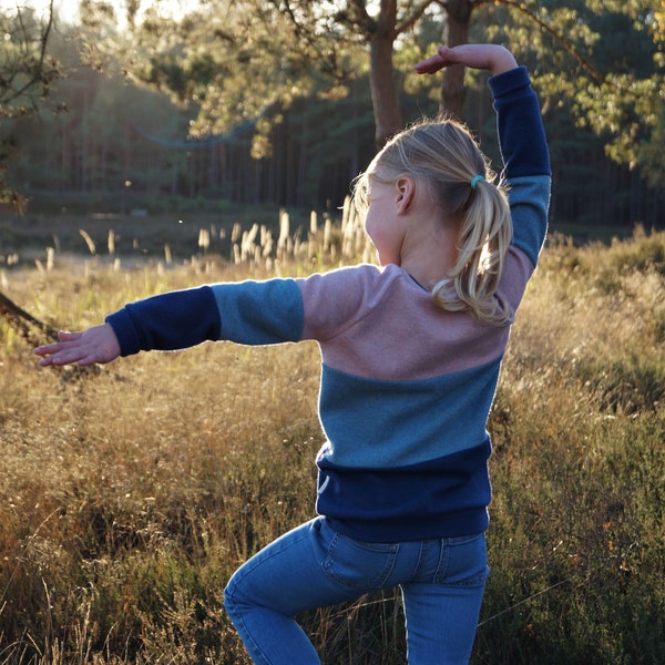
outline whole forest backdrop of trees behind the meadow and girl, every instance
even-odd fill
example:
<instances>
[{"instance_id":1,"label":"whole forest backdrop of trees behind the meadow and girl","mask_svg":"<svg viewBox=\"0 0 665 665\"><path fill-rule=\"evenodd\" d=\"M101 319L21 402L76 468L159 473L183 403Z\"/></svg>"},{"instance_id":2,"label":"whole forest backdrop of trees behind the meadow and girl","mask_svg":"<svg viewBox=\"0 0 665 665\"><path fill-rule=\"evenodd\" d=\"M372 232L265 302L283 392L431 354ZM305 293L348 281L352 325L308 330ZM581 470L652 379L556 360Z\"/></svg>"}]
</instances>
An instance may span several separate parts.
<instances>
[{"instance_id":1,"label":"whole forest backdrop of trees behind the meadow and girl","mask_svg":"<svg viewBox=\"0 0 665 665\"><path fill-rule=\"evenodd\" d=\"M48 12L0 14L4 198L33 213L334 212L377 143L441 111L498 163L485 75L412 71L442 41L491 40L541 96L552 223L663 218L661 0L84 1L66 16L44 43ZM12 98L31 48L40 79Z\"/></svg>"}]
</instances>

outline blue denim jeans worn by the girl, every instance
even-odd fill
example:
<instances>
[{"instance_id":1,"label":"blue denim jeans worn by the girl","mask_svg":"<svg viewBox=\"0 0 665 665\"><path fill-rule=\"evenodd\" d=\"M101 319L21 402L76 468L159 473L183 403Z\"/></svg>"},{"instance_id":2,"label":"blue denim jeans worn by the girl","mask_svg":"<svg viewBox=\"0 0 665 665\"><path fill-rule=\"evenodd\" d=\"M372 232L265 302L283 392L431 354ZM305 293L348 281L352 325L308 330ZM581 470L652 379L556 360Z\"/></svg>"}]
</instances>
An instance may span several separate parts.
<instances>
[{"instance_id":1,"label":"blue denim jeans worn by the girl","mask_svg":"<svg viewBox=\"0 0 665 665\"><path fill-rule=\"evenodd\" d=\"M488 575L484 534L362 543L316 518L249 559L224 605L254 663L320 664L294 616L399 585L410 665L469 662Z\"/></svg>"}]
</instances>

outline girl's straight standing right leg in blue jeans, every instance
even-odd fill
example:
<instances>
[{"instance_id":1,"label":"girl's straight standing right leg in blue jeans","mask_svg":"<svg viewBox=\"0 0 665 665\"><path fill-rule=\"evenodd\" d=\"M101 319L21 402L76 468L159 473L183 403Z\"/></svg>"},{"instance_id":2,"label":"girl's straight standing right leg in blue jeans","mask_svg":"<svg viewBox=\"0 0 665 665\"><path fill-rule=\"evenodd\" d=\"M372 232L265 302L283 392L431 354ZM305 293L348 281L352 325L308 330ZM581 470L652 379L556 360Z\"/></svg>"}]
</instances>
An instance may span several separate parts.
<instances>
[{"instance_id":1,"label":"girl's straight standing right leg in blue jeans","mask_svg":"<svg viewBox=\"0 0 665 665\"><path fill-rule=\"evenodd\" d=\"M484 535L444 539L438 553L427 542L419 569L401 584L409 665L466 665L488 575Z\"/></svg>"}]
</instances>

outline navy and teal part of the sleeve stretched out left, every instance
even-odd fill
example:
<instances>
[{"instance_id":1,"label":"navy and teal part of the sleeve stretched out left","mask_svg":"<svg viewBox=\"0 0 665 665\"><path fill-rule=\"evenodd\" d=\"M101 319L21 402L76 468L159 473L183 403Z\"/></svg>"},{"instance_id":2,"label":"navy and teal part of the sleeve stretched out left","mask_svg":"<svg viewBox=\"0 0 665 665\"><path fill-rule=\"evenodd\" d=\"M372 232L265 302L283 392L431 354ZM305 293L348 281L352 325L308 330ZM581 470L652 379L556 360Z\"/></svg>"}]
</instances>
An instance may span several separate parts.
<instances>
[{"instance_id":1,"label":"navy and teal part of the sleeve stretched out left","mask_svg":"<svg viewBox=\"0 0 665 665\"><path fill-rule=\"evenodd\" d=\"M126 305L106 317L123 356L176 350L206 340L265 345L297 341L303 299L293 279L205 285Z\"/></svg>"}]
</instances>

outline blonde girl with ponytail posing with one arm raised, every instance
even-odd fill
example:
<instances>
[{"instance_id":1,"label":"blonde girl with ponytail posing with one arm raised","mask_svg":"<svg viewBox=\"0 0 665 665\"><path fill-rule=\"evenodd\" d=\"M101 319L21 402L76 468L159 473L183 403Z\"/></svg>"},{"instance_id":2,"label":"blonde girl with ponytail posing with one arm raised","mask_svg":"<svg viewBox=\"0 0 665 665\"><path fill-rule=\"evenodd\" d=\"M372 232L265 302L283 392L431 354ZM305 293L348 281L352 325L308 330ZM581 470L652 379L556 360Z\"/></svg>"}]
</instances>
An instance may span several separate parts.
<instances>
[{"instance_id":1,"label":"blonde girl with ponytail posing with one arm raised","mask_svg":"<svg viewBox=\"0 0 665 665\"><path fill-rule=\"evenodd\" d=\"M89 365L204 340L318 341L318 516L225 591L256 663L319 663L294 616L396 585L410 664L471 653L488 574L485 422L544 241L550 165L526 70L503 48L471 44L416 69L456 63L493 74L504 182L456 122L395 136L355 188L380 267L168 293L35 349L43 366Z\"/></svg>"}]
</instances>

